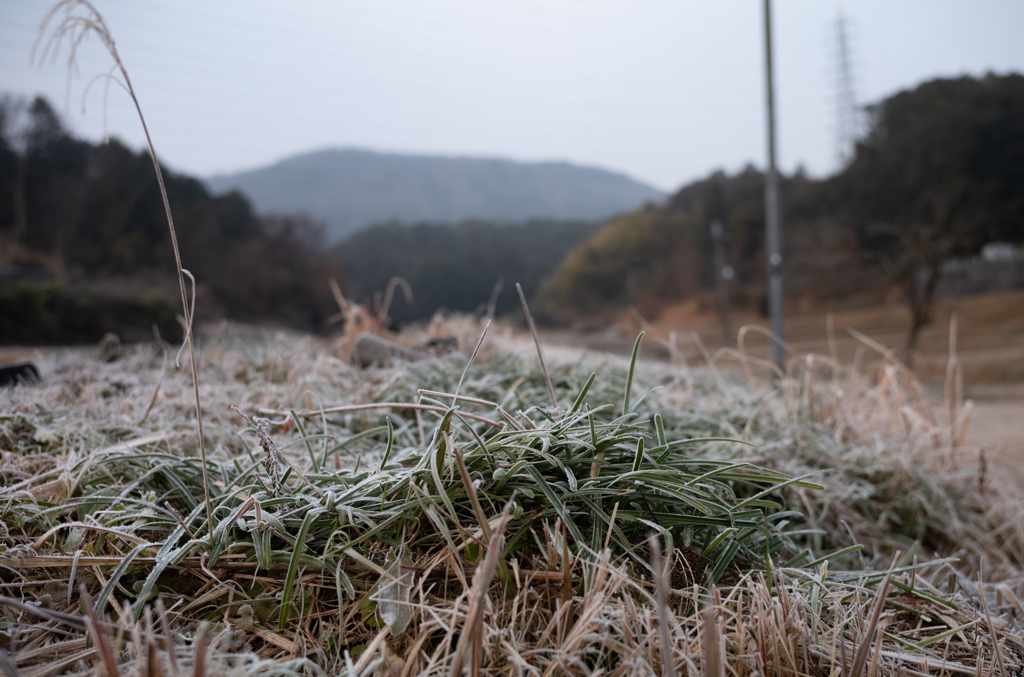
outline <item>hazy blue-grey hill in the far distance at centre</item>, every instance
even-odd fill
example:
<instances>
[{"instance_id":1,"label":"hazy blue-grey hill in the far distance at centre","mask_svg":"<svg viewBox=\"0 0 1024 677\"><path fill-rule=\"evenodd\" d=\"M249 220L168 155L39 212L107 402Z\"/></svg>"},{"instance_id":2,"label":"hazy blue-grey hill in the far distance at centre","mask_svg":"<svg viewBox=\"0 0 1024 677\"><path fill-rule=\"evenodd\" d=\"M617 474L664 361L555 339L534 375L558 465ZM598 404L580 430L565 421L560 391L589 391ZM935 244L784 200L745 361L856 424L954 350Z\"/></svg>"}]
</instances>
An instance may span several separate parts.
<instances>
[{"instance_id":1,"label":"hazy blue-grey hill in the far distance at centre","mask_svg":"<svg viewBox=\"0 0 1024 677\"><path fill-rule=\"evenodd\" d=\"M305 212L328 240L381 222L599 220L660 201L659 191L623 174L564 162L393 155L334 149L207 180L240 189L268 212Z\"/></svg>"}]
</instances>

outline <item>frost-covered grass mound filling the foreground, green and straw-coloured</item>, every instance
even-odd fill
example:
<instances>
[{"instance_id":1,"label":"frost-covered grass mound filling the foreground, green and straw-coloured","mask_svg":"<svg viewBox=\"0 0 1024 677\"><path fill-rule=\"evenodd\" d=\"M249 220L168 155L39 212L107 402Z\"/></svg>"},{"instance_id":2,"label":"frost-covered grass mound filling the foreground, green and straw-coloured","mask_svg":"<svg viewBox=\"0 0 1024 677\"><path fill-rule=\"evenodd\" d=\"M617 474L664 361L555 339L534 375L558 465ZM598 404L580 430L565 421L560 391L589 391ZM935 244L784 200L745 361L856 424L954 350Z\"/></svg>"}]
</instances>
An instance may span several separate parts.
<instances>
[{"instance_id":1,"label":"frost-covered grass mound filling the foreground, green and straw-coloured","mask_svg":"<svg viewBox=\"0 0 1024 677\"><path fill-rule=\"evenodd\" d=\"M224 326L205 466L175 348L43 359L0 394L7 665L1021 674L1022 493L955 396L950 426L892 362L801 358L777 390L565 348L543 370L508 328L467 368L481 331L359 371Z\"/></svg>"}]
</instances>

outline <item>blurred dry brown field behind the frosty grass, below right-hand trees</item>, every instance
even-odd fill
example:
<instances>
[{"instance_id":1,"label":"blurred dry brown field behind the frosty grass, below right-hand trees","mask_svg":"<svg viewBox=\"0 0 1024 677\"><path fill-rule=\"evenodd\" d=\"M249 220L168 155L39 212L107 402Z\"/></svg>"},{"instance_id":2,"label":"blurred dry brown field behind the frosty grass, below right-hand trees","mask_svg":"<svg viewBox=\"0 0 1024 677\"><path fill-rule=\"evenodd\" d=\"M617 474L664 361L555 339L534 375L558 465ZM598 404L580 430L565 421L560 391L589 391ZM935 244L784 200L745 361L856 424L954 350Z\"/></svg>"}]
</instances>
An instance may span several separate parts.
<instances>
[{"instance_id":1,"label":"blurred dry brown field behind the frosty grass, below right-hand trees","mask_svg":"<svg viewBox=\"0 0 1024 677\"><path fill-rule=\"evenodd\" d=\"M1024 409L1024 313L1017 308L1024 308L1024 291L939 300L933 322L922 332L912 373L923 384L922 395L936 416L947 416L943 405L944 389L950 355L950 320L955 312L955 354L962 369L964 397L972 400L967 441L975 447L984 445L990 454L1005 458L1024 480L1024 465L1020 463L1024 460L1024 423L1019 418ZM560 344L627 353L632 345L631 337L647 329L655 338L650 342L648 354L666 359L669 353L664 342L675 332L678 361L705 365L706 356L692 338L695 333L719 369L739 374L740 363L735 354L720 350L737 347L735 336L741 327L763 327L767 326L767 321L754 312L735 310L729 320L731 340L728 345L723 341L718 314L698 310L695 302L670 306L650 322L625 312L612 330L603 334L579 336L556 332L551 339ZM833 340L829 342L828 309L797 308L786 315L786 339L798 353L835 354L844 364L857 362L869 371L880 364L882 356L847 330L856 330L898 354L906 341L908 322L906 308L896 303L839 307L833 312ZM657 339L663 345L657 344ZM744 343L748 354L762 359L768 356L764 334L750 332ZM764 368L753 369L759 376L767 374Z\"/></svg>"}]
</instances>

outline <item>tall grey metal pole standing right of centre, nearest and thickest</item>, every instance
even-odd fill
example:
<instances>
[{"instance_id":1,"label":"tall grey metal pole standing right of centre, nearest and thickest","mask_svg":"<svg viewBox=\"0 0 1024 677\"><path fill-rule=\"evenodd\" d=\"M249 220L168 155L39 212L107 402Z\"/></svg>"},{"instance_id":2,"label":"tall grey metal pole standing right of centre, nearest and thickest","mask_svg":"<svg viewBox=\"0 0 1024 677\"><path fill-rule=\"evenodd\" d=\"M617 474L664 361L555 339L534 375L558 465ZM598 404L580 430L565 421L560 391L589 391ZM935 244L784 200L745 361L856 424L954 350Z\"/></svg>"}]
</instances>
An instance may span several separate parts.
<instances>
[{"instance_id":1,"label":"tall grey metal pole standing right of centre, nearest and thickest","mask_svg":"<svg viewBox=\"0 0 1024 677\"><path fill-rule=\"evenodd\" d=\"M768 309L771 314L771 331L776 337L775 340L771 341L772 362L783 367L785 355L780 343L784 338L782 326L782 210L778 195L778 172L775 170L775 91L772 82L771 0L765 0L765 75L768 108L768 172L765 181Z\"/></svg>"}]
</instances>

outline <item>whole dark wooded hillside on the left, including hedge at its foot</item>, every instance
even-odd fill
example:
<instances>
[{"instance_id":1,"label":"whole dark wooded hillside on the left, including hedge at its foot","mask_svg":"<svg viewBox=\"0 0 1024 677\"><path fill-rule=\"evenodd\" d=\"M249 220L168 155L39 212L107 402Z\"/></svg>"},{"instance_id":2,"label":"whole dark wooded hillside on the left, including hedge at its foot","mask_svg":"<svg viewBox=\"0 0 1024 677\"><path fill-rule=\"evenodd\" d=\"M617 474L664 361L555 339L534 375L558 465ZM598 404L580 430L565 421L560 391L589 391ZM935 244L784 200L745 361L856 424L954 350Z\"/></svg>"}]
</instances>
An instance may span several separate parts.
<instances>
[{"instance_id":1,"label":"whole dark wooded hillside on the left, including hedge at its foot","mask_svg":"<svg viewBox=\"0 0 1024 677\"><path fill-rule=\"evenodd\" d=\"M241 194L212 196L166 168L164 176L198 318L326 326L334 311L327 281L337 271L321 253L321 227L302 216L257 216ZM151 324L180 334L174 255L147 153L75 138L44 98L7 96L0 195L4 341L152 336Z\"/></svg>"}]
</instances>

